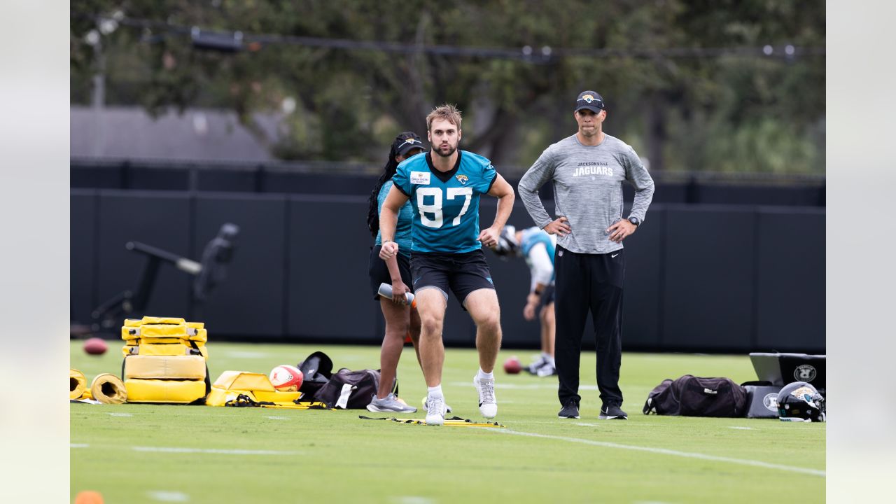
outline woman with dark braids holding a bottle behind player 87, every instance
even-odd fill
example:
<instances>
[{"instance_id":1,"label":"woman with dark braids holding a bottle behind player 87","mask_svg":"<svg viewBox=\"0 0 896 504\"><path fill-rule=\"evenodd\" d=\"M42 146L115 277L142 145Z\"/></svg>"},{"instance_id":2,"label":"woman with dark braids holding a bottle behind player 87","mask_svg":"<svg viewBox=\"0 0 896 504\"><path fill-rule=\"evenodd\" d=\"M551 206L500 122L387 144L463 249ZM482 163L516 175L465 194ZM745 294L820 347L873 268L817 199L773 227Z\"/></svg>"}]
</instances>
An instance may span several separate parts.
<instances>
[{"instance_id":1,"label":"woman with dark braids holding a bottle behind player 87","mask_svg":"<svg viewBox=\"0 0 896 504\"><path fill-rule=\"evenodd\" d=\"M410 202L401 207L398 217L398 226L395 229L395 241L401 246L404 254L397 254L388 261L380 258L382 241L380 238L379 210L383 206L389 189L392 188L392 176L399 163L412 156L423 152L423 142L420 137L406 131L395 137L392 149L389 151L389 161L383 167L383 175L376 181L374 190L370 193L367 209L367 228L376 243L370 251L370 288L374 299L379 300L383 309L383 318L386 321L386 334L383 336L383 348L380 351L380 388L372 397L367 410L380 413L415 413L417 408L400 401L392 394L392 382L395 378L401 350L404 348L405 335L410 334L417 350L420 337L420 317L417 311L411 309L405 302L405 292L410 292L410 222L413 209ZM378 294L380 283L392 284L392 300L381 298ZM419 358L418 358L419 360Z\"/></svg>"}]
</instances>

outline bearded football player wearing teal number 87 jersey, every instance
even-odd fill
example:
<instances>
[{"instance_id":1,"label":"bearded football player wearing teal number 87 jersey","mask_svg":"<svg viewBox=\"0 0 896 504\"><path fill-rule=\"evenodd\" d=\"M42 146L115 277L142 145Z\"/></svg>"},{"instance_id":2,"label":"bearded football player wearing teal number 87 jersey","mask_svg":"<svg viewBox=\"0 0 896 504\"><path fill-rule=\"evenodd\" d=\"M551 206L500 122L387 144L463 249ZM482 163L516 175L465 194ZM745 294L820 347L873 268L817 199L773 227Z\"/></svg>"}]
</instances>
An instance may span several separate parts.
<instances>
[{"instance_id":1,"label":"bearded football player wearing teal number 87 jersey","mask_svg":"<svg viewBox=\"0 0 896 504\"><path fill-rule=\"evenodd\" d=\"M497 414L495 359L501 346L501 312L495 285L482 247L497 243L513 209L513 187L498 175L491 161L458 150L461 112L443 105L426 116L426 136L432 146L425 155L401 162L393 186L380 210L383 247L389 260L399 252L393 241L401 205L410 200L410 268L420 315L420 361L428 394L424 402L427 425L443 425L446 412L442 392L444 343L442 329L448 291L470 312L476 324L479 369L473 382L479 412ZM479 230L479 196L498 198L495 222Z\"/></svg>"}]
</instances>

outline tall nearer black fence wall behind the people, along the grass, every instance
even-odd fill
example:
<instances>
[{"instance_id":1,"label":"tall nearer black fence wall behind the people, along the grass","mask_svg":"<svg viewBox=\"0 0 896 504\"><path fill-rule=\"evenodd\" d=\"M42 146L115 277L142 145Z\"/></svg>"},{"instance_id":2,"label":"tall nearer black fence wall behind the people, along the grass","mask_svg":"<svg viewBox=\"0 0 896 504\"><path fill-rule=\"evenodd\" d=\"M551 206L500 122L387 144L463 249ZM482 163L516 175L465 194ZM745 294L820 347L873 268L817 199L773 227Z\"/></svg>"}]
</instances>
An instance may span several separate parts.
<instances>
[{"instance_id":1,"label":"tall nearer black fence wall behind the people, along the grass","mask_svg":"<svg viewBox=\"0 0 896 504\"><path fill-rule=\"evenodd\" d=\"M146 314L194 317L229 339L382 341L367 276L366 196L73 190L71 197L73 321L89 322L99 303L137 288L147 261L126 250L127 241L199 260L221 224L234 222L241 232L228 278L209 300L194 305L194 277L163 264ZM495 199L481 206L485 227ZM509 222L532 225L520 202ZM653 204L625 254L626 350L824 351L822 209ZM504 346L538 348L538 323L521 313L528 268L521 258L486 255ZM445 343L471 347L475 335L451 296ZM582 346L594 348L590 321Z\"/></svg>"}]
</instances>

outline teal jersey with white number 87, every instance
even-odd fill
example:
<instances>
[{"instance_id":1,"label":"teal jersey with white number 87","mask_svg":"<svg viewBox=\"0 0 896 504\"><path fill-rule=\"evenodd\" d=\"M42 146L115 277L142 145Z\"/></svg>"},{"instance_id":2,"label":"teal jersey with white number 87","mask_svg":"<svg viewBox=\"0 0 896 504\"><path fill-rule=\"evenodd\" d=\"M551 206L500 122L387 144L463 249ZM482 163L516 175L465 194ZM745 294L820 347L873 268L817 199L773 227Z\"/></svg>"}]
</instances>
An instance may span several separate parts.
<instances>
[{"instance_id":1,"label":"teal jersey with white number 87","mask_svg":"<svg viewBox=\"0 0 896 504\"><path fill-rule=\"evenodd\" d=\"M482 248L479 196L491 190L497 173L491 161L458 151L450 171L435 169L432 152L398 165L392 182L414 206L411 250L460 254Z\"/></svg>"}]
</instances>

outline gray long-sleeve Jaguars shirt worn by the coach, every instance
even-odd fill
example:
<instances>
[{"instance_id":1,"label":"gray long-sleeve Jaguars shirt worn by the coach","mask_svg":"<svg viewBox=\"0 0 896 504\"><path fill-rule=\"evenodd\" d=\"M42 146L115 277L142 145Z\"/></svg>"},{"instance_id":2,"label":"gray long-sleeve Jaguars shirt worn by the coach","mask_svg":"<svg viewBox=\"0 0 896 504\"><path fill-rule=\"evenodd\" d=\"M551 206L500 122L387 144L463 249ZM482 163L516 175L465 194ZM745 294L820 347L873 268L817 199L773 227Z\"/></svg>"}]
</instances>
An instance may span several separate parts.
<instances>
[{"instance_id":1,"label":"gray long-sleeve Jaguars shirt worn by the coach","mask_svg":"<svg viewBox=\"0 0 896 504\"><path fill-rule=\"evenodd\" d=\"M566 217L573 232L557 245L580 254L607 254L623 248L610 241L607 228L623 218L622 183L635 190L632 213L642 222L653 199L653 178L634 149L615 136L598 145L582 145L576 135L545 149L522 176L518 189L532 220L544 228L554 219L538 198L538 189L554 181L556 215Z\"/></svg>"}]
</instances>

